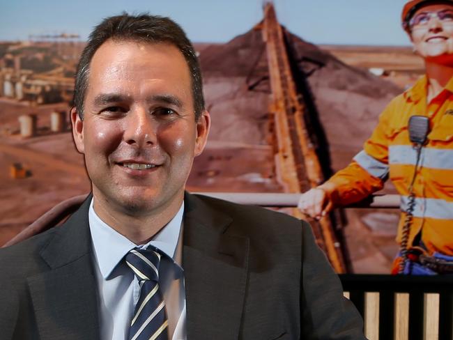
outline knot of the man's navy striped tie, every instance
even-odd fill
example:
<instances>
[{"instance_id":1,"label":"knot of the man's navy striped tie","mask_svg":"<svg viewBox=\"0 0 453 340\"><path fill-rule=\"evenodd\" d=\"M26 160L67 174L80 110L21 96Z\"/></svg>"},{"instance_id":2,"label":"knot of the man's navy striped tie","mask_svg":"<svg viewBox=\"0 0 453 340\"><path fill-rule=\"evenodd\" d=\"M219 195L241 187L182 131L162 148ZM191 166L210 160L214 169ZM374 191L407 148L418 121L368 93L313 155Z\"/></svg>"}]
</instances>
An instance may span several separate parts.
<instances>
[{"instance_id":1,"label":"knot of the man's navy striped tie","mask_svg":"<svg viewBox=\"0 0 453 340\"><path fill-rule=\"evenodd\" d=\"M126 264L139 281L159 281L161 255L153 249L132 249L126 255Z\"/></svg>"}]
</instances>

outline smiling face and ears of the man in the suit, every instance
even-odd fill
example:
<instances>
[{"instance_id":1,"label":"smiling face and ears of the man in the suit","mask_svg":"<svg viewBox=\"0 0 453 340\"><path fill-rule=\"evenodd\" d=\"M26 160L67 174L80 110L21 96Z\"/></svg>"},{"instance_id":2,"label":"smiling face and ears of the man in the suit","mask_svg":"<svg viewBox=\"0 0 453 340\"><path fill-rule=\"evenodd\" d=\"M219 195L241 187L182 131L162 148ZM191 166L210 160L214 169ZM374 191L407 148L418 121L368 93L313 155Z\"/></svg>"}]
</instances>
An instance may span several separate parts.
<instances>
[{"instance_id":1,"label":"smiling face and ears of the man in the suit","mask_svg":"<svg viewBox=\"0 0 453 340\"><path fill-rule=\"evenodd\" d=\"M128 215L179 206L209 129L173 45L107 40L90 64L84 120L71 112L96 201Z\"/></svg>"}]
</instances>

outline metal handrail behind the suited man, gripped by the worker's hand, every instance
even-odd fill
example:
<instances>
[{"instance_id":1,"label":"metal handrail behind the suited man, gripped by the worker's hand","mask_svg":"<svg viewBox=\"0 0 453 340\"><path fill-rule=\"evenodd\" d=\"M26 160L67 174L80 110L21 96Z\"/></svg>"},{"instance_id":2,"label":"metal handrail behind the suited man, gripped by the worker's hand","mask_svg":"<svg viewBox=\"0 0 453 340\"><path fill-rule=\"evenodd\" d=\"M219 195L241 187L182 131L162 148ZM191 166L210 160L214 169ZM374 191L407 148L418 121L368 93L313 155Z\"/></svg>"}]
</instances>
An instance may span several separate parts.
<instances>
[{"instance_id":1,"label":"metal handrail behind the suited man, gripped by the worker's hand","mask_svg":"<svg viewBox=\"0 0 453 340\"><path fill-rule=\"evenodd\" d=\"M254 206L273 207L273 208L294 208L298 206L300 194L280 194L280 193L248 193L248 192L196 192L205 196L224 199L240 204L250 204ZM66 199L54 206L49 211L36 219L35 222L27 226L14 238L6 242L3 247L15 245L26 240L33 235L42 233L47 229L59 224L63 219L75 212L82 204L87 195L79 195ZM398 208L398 195L373 195L368 199L355 203L345 208Z\"/></svg>"}]
</instances>

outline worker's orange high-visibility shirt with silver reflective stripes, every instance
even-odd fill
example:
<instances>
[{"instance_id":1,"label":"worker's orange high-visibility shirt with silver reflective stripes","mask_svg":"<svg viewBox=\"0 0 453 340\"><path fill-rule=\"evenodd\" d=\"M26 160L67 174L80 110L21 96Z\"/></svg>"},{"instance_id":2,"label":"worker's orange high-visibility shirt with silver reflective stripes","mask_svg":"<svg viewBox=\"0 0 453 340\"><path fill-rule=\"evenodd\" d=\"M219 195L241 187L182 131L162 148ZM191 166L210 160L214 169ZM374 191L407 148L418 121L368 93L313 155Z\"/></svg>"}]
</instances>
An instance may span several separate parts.
<instances>
[{"instance_id":1,"label":"worker's orange high-visibility shirt with silver reflective stripes","mask_svg":"<svg viewBox=\"0 0 453 340\"><path fill-rule=\"evenodd\" d=\"M453 78L436 98L427 103L427 77L398 95L385 108L363 150L345 169L328 182L335 185L332 201L344 206L381 190L390 176L401 194L401 219L397 241L401 242L408 208L408 188L415 171L417 152L409 139L410 116L427 116L430 132L422 148L417 177L413 185L415 208L408 245L415 236L430 254L453 256Z\"/></svg>"}]
</instances>

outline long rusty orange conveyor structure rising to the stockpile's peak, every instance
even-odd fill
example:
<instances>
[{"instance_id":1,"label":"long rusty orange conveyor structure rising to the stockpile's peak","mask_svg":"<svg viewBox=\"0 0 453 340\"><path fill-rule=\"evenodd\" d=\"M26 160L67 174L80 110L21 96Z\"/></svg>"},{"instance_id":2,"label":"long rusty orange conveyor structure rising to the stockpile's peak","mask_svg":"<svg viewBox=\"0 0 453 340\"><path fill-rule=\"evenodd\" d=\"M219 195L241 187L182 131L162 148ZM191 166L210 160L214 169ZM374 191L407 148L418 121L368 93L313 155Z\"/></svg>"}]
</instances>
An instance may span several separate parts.
<instances>
[{"instance_id":1,"label":"long rusty orange conveyor structure rising to the stockpile's peak","mask_svg":"<svg viewBox=\"0 0 453 340\"><path fill-rule=\"evenodd\" d=\"M284 40L284 27L277 21L272 3L264 7L261 24L272 98L271 124L275 134L275 164L277 177L288 193L305 192L323 182L323 171L305 123L306 108L302 93L298 93L289 61L289 51ZM297 208L292 215L306 219ZM337 273L346 271L344 256L335 236L330 217L310 221L318 245L327 254Z\"/></svg>"}]
</instances>

